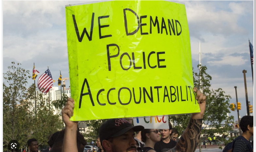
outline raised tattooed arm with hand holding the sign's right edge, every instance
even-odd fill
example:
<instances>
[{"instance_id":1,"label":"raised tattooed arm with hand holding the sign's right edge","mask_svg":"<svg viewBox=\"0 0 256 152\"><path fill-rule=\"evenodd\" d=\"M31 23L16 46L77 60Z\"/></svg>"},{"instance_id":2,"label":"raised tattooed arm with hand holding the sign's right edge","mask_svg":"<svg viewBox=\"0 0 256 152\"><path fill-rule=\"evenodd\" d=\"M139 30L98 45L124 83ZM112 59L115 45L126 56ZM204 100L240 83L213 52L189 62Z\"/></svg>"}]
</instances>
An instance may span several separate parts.
<instances>
[{"instance_id":1,"label":"raised tattooed arm with hand holding the sign's right edge","mask_svg":"<svg viewBox=\"0 0 256 152\"><path fill-rule=\"evenodd\" d=\"M199 143L203 116L206 106L206 96L197 88L194 88L196 92L196 99L200 107L200 112L191 115L188 127L179 138L178 143L174 148L167 152L194 152Z\"/></svg>"}]
</instances>

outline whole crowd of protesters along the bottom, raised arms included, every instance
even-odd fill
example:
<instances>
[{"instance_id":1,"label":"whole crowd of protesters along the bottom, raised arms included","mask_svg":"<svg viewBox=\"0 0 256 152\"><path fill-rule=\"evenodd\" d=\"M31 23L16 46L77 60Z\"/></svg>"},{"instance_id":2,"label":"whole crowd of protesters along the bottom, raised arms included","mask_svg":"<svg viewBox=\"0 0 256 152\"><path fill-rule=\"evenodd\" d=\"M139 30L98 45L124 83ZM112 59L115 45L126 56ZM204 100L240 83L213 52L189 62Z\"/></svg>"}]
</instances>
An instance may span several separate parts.
<instances>
[{"instance_id":1,"label":"whole crowd of protesters along the bottom, raised arms included","mask_svg":"<svg viewBox=\"0 0 256 152\"><path fill-rule=\"evenodd\" d=\"M194 91L200 112L191 115L188 127L179 139L179 132L175 128L172 128L170 123L169 128L166 129L147 129L143 126L132 126L130 122L123 118L109 119L99 129L99 136L95 142L98 147L97 152L195 151L199 143L202 120L206 107L206 97L197 88ZM70 121L71 116L73 116L74 104L74 100L68 98L65 107L62 109L62 119L65 129L49 137L49 148L44 152L84 151L84 146L87 143L83 135L77 131L78 122ZM243 131L242 137L248 141L250 136L253 135L253 116L244 116L241 119L240 127ZM250 150L253 149L253 145L250 142L245 143L246 141L242 139L235 140L233 151L251 152ZM30 152L38 152L36 139L29 139L27 144ZM247 146L247 148L241 148L241 146Z\"/></svg>"}]
</instances>

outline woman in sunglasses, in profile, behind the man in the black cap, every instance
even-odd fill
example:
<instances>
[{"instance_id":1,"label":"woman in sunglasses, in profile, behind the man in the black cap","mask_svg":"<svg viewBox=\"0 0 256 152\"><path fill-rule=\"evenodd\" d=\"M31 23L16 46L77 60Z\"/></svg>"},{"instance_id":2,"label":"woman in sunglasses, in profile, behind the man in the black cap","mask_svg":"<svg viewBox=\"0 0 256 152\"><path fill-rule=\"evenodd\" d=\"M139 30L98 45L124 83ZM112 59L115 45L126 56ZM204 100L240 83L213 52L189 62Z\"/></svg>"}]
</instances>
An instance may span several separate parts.
<instances>
[{"instance_id":1,"label":"woman in sunglasses, in profile, behind the man in the black cap","mask_svg":"<svg viewBox=\"0 0 256 152\"><path fill-rule=\"evenodd\" d=\"M145 143L142 152L156 152L154 145L161 140L160 129L143 129L141 140Z\"/></svg>"}]
</instances>

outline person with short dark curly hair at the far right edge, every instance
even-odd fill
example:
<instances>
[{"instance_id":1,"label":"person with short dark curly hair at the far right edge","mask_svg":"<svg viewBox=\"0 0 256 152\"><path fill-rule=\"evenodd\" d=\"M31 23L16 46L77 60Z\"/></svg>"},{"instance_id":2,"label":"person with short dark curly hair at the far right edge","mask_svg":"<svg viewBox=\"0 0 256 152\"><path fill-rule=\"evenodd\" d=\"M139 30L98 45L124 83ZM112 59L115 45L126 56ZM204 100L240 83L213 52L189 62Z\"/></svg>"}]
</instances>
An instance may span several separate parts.
<instances>
[{"instance_id":1,"label":"person with short dark curly hair at the far right edge","mask_svg":"<svg viewBox=\"0 0 256 152\"><path fill-rule=\"evenodd\" d=\"M253 116L243 116L239 124L242 135L235 139L233 145L233 152L252 152L253 145L249 138L253 135Z\"/></svg>"}]
</instances>

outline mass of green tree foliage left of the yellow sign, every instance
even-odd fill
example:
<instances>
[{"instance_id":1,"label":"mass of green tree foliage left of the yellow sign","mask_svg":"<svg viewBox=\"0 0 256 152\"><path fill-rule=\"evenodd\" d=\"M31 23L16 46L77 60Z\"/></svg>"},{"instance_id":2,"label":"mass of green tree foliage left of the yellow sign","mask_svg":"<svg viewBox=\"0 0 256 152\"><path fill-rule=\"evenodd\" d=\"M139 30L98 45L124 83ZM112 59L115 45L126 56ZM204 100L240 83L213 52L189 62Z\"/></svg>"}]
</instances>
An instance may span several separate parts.
<instances>
[{"instance_id":1,"label":"mass of green tree foliage left of the yellow sign","mask_svg":"<svg viewBox=\"0 0 256 152\"><path fill-rule=\"evenodd\" d=\"M11 140L17 140L21 147L30 138L36 138L41 146L47 145L48 136L63 128L60 115L53 114L48 99L43 99L43 94L35 96L35 84L26 88L31 76L19 65L12 62L9 71L3 74L4 151L8 151L7 145ZM30 111L35 99L37 114L35 110Z\"/></svg>"}]
</instances>

